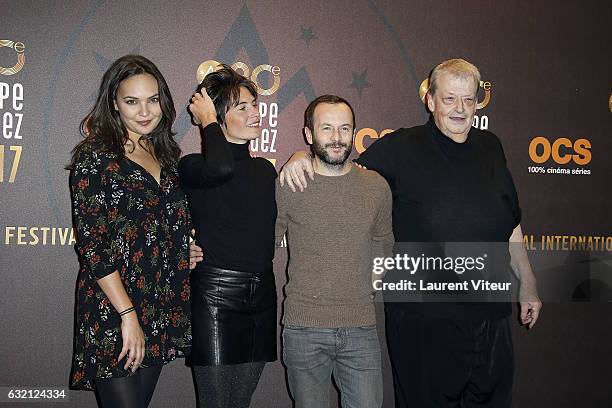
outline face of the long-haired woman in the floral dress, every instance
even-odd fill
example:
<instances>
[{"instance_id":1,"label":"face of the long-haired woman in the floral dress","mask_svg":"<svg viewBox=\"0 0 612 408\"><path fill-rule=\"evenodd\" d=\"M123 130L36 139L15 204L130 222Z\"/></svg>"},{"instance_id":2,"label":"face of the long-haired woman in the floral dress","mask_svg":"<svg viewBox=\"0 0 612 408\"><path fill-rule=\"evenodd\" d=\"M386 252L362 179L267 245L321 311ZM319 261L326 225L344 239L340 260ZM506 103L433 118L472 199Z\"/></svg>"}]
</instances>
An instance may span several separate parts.
<instances>
[{"instance_id":1,"label":"face of the long-haired woman in the floral dress","mask_svg":"<svg viewBox=\"0 0 612 408\"><path fill-rule=\"evenodd\" d=\"M115 109L131 138L153 132L162 118L155 78L138 74L123 80L117 89Z\"/></svg>"}]
</instances>

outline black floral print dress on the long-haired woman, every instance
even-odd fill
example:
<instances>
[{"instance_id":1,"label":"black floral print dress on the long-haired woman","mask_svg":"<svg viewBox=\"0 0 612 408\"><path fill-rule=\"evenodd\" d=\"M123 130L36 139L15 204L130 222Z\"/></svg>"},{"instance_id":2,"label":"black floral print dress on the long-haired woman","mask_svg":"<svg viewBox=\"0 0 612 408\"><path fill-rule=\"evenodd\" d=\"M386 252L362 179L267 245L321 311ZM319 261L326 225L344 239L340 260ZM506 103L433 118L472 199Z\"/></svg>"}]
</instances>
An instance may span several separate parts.
<instances>
[{"instance_id":1,"label":"black floral print dress on the long-haired woman","mask_svg":"<svg viewBox=\"0 0 612 408\"><path fill-rule=\"evenodd\" d=\"M145 336L143 367L184 357L191 345L191 225L175 167L157 181L127 158L85 147L70 175L80 270L71 386L124 377L121 317L96 280L119 271Z\"/></svg>"}]
</instances>

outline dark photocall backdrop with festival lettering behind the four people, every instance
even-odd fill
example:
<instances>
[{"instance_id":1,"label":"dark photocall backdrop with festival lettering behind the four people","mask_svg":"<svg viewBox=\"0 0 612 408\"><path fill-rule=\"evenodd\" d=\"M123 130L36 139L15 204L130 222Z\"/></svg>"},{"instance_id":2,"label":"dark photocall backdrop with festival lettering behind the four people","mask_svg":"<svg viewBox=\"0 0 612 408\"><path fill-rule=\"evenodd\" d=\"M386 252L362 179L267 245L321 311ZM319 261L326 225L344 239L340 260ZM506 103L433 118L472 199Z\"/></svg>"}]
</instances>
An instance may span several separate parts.
<instances>
[{"instance_id":1,"label":"dark photocall backdrop with festival lettering behind the four people","mask_svg":"<svg viewBox=\"0 0 612 408\"><path fill-rule=\"evenodd\" d=\"M113 60L137 53L157 64L184 153L200 146L185 109L198 70L233 64L259 86L262 134L251 150L278 170L305 148L303 112L317 95L353 104L356 156L390 130L425 122L423 80L440 61L462 57L482 73L474 126L503 143L530 256L562 256L566 267L542 273L577 283L566 299L544 305L534 330L514 325L514 406L610 406L605 2L21 0L0 1L0 10L0 387L67 386L78 265L64 167ZM285 262L281 248L279 288ZM392 407L384 353L384 406ZM70 392L68 401L43 405L93 407L95 398ZM182 360L164 369L151 406L195 406ZM280 362L266 367L253 406L291 406Z\"/></svg>"}]
</instances>

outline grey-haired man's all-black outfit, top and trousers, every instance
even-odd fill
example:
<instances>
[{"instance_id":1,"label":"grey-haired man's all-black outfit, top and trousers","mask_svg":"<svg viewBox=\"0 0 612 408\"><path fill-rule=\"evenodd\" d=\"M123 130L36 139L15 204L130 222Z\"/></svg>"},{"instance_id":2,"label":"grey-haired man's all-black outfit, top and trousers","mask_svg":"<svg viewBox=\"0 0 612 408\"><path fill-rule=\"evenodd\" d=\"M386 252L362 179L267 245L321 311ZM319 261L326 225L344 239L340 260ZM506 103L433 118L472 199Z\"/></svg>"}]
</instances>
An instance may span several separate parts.
<instances>
[{"instance_id":1,"label":"grey-haired man's all-black outfit, top and trousers","mask_svg":"<svg viewBox=\"0 0 612 408\"><path fill-rule=\"evenodd\" d=\"M491 132L472 128L456 143L430 119L386 135L357 162L391 186L398 243L508 242L520 222ZM397 407L510 406L510 303L389 302L385 311Z\"/></svg>"}]
</instances>

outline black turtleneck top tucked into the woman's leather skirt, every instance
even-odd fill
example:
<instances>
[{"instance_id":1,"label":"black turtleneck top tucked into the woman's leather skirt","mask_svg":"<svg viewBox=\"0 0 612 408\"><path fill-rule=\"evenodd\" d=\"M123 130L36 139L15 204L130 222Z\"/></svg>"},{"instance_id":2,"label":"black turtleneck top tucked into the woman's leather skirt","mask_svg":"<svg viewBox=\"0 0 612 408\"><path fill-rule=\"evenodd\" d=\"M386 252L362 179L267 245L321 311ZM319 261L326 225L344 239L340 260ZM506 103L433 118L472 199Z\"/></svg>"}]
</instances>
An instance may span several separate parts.
<instances>
[{"instance_id":1,"label":"black turtleneck top tucked into the woman's leather skirt","mask_svg":"<svg viewBox=\"0 0 612 408\"><path fill-rule=\"evenodd\" d=\"M219 268L261 272L272 267L276 170L253 158L249 145L229 143L218 123L201 130L202 154L179 163L204 261Z\"/></svg>"}]
</instances>

